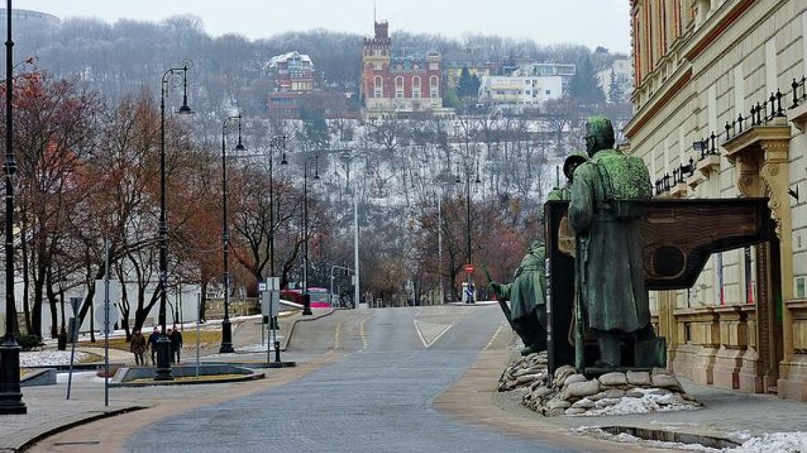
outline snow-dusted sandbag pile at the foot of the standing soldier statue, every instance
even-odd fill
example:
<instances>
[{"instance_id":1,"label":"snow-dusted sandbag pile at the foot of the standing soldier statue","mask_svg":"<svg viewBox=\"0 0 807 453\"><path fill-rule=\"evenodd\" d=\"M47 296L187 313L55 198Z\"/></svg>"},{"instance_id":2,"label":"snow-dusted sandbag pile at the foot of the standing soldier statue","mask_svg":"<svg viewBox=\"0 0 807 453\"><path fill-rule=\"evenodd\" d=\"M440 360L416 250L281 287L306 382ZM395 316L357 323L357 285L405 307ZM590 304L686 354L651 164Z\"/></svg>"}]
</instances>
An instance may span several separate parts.
<instances>
[{"instance_id":1,"label":"snow-dusted sandbag pile at the foot of the standing soldier statue","mask_svg":"<svg viewBox=\"0 0 807 453\"><path fill-rule=\"evenodd\" d=\"M548 384L546 373L533 380L521 403L549 417L646 414L703 407L664 368L651 372L609 372L596 379L558 368Z\"/></svg>"}]
</instances>

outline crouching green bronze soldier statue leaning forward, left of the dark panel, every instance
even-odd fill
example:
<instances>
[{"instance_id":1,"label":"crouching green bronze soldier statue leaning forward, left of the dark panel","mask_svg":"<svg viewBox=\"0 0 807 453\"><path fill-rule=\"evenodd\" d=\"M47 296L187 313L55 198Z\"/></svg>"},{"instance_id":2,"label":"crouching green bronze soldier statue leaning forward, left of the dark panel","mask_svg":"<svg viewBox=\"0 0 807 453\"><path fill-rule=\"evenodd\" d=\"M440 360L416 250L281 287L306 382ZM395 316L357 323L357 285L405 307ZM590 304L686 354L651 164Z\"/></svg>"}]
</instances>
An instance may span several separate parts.
<instances>
[{"instance_id":1,"label":"crouching green bronze soldier statue leaning forward, left of the dark panel","mask_svg":"<svg viewBox=\"0 0 807 453\"><path fill-rule=\"evenodd\" d=\"M544 243L534 241L516 268L511 284L501 285L494 281L490 284L491 290L502 304L504 316L524 342L525 348L521 350L521 355L546 351L545 260ZM510 301L509 310L505 301Z\"/></svg>"}]
</instances>

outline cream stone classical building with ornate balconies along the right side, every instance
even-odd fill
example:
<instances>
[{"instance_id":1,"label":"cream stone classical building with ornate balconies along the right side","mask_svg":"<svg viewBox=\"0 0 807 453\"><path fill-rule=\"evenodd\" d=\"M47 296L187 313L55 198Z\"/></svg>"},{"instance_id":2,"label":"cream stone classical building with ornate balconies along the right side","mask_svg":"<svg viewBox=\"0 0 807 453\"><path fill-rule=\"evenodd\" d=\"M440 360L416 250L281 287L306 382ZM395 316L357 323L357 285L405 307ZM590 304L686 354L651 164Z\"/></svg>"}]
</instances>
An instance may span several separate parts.
<instances>
[{"instance_id":1,"label":"cream stone classical building with ornate balconies along the right side","mask_svg":"<svg viewBox=\"0 0 807 453\"><path fill-rule=\"evenodd\" d=\"M625 152L659 197L767 197L776 238L652 294L668 366L807 401L807 2L631 0ZM801 190L800 190L801 189Z\"/></svg>"}]
</instances>

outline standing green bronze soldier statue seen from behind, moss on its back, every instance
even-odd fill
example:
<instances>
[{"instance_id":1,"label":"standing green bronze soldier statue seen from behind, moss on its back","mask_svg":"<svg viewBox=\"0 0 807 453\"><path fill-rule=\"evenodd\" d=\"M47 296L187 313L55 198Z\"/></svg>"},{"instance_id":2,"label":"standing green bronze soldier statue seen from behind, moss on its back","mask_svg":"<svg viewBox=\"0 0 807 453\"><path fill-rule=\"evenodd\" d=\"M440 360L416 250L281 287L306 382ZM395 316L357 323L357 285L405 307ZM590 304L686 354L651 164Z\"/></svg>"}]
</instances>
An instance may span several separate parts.
<instances>
[{"instance_id":1,"label":"standing green bronze soldier statue seen from behind, moss on its back","mask_svg":"<svg viewBox=\"0 0 807 453\"><path fill-rule=\"evenodd\" d=\"M586 150L591 159L575 171L569 222L577 235L575 260L582 303L600 347L598 366L621 363L621 339L653 338L645 289L638 207L625 200L650 198L650 175L644 161L613 149L613 125L607 118L586 123Z\"/></svg>"}]
</instances>

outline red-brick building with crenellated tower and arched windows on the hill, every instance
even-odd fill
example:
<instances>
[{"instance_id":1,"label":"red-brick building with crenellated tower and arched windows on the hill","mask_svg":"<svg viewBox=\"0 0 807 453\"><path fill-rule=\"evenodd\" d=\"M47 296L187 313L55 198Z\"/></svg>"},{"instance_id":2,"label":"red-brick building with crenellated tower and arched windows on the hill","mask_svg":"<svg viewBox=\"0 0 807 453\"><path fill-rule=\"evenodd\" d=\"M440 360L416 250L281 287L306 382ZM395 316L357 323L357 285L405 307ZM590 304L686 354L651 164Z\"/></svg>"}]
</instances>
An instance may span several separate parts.
<instances>
[{"instance_id":1,"label":"red-brick building with crenellated tower and arched windows on the hill","mask_svg":"<svg viewBox=\"0 0 807 453\"><path fill-rule=\"evenodd\" d=\"M362 102L367 110L440 109L441 55L437 51L395 53L389 24L375 23L375 35L364 40Z\"/></svg>"}]
</instances>

